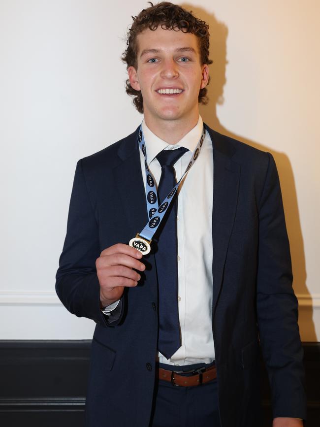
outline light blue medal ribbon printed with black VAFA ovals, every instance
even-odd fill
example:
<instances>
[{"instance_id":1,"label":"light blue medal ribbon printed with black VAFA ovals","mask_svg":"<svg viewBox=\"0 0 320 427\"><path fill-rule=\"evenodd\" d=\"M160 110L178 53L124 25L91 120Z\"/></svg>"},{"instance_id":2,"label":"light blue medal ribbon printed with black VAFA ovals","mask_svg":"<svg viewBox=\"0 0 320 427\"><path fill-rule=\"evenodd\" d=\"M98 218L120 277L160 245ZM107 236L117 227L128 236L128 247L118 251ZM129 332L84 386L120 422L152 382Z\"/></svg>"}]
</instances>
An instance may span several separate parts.
<instances>
[{"instance_id":1,"label":"light blue medal ribbon printed with black VAFA ovals","mask_svg":"<svg viewBox=\"0 0 320 427\"><path fill-rule=\"evenodd\" d=\"M165 215L165 213L166 213L166 211L167 211L168 207L170 206L170 203L173 199L173 196L179 187L179 184L181 183L183 178L186 176L186 174L189 172L193 163L198 158L200 151L201 151L203 141L204 141L205 133L206 133L206 131L203 127L201 137L197 143L197 146L195 147L195 149L192 153L191 160L190 160L188 166L186 167L186 170L184 171L180 180L173 187L173 189L170 191L170 193L167 195L167 197L165 197L165 199L160 203L160 206L159 206L157 191L156 191L156 180L155 180L153 174L151 173L149 166L148 166L148 163L147 163L146 144L144 141L142 128L140 126L140 129L138 132L138 143L139 143L139 147L140 147L140 149L144 155L144 165L145 165L145 173L146 173L146 189L145 189L145 191L146 191L147 210L148 210L148 215L149 215L150 220L147 222L144 229L139 233L139 237L142 237L143 239L147 240L149 243L151 242L155 232L157 231L161 221L163 220L164 215Z\"/></svg>"}]
</instances>

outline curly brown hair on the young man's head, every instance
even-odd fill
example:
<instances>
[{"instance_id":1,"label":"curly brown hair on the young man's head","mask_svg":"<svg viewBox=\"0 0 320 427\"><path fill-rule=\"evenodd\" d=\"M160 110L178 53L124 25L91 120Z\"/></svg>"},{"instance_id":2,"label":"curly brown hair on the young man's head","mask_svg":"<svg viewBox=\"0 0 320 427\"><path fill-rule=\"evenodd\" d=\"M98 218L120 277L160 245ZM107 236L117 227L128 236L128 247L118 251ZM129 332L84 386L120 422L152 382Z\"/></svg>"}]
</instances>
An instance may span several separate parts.
<instances>
[{"instance_id":1,"label":"curly brown hair on the young man's head","mask_svg":"<svg viewBox=\"0 0 320 427\"><path fill-rule=\"evenodd\" d=\"M192 11L188 12L181 6L162 1L155 6L151 1L150 7L143 9L139 15L133 17L133 24L127 34L127 49L122 55L122 61L129 66L137 69L137 35L146 29L152 31L157 30L160 25L163 30L182 31L183 33L192 33L197 36L200 61L203 64L212 64L209 60L209 25L192 15ZM210 78L209 78L210 81ZM208 81L208 83L209 83ZM126 92L133 96L133 104L139 113L143 113L143 99L141 91L136 91L130 85L129 80L126 81ZM207 89L203 88L199 91L198 102L206 104L208 102Z\"/></svg>"}]
</instances>

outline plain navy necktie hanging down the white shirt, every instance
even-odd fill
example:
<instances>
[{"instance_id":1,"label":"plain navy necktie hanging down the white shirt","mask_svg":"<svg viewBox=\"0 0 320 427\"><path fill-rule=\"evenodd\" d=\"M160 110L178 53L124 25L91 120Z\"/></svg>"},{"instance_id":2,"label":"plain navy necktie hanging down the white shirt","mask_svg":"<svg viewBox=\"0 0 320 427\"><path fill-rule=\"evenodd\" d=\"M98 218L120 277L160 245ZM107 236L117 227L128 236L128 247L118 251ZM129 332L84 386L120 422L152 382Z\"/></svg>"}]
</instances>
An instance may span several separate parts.
<instances>
[{"instance_id":1,"label":"plain navy necktie hanging down the white shirt","mask_svg":"<svg viewBox=\"0 0 320 427\"><path fill-rule=\"evenodd\" d=\"M158 187L159 204L167 197L177 181L173 165L186 153L186 148L163 150L157 159L161 165ZM159 283L159 339L158 349L166 359L181 346L178 313L178 254L177 254L177 192L160 226L156 253Z\"/></svg>"}]
</instances>

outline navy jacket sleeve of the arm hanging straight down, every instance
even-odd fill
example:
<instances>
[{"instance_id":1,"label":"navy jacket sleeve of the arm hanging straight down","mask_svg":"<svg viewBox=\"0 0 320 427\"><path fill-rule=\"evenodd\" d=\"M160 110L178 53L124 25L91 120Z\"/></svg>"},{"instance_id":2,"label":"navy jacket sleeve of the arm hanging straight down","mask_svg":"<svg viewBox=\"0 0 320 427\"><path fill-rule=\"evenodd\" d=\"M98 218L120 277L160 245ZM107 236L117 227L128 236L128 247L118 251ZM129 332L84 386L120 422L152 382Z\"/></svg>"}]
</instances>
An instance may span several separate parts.
<instances>
[{"instance_id":1,"label":"navy jacket sleeve of the arm hanging straight down","mask_svg":"<svg viewBox=\"0 0 320 427\"><path fill-rule=\"evenodd\" d=\"M288 236L276 164L271 154L259 202L257 320L275 417L306 419L298 303L292 289Z\"/></svg>"}]
</instances>

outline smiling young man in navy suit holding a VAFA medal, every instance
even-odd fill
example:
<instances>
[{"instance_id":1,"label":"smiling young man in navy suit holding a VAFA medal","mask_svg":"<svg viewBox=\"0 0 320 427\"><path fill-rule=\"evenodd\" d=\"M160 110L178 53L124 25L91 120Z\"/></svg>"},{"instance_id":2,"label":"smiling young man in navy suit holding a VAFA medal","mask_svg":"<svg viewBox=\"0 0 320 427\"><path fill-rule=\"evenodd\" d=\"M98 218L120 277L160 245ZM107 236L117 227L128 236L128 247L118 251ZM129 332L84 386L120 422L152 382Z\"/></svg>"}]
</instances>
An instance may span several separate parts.
<instances>
[{"instance_id":1,"label":"smiling young man in navy suit holding a VAFA medal","mask_svg":"<svg viewBox=\"0 0 320 427\"><path fill-rule=\"evenodd\" d=\"M56 288L96 322L88 426L257 427L259 341L273 426L305 418L276 166L203 127L208 55L204 22L143 10L124 53L141 128L77 164Z\"/></svg>"}]
</instances>

